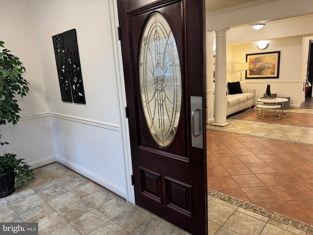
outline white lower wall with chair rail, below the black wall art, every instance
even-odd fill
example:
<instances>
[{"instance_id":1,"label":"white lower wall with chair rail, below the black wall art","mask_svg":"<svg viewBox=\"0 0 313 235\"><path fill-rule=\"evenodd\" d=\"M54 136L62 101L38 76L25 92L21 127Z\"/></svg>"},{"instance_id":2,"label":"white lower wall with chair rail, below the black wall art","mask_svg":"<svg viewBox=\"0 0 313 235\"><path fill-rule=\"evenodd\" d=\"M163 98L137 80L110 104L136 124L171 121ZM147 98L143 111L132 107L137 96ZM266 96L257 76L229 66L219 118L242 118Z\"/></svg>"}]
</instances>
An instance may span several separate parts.
<instances>
[{"instance_id":1,"label":"white lower wall with chair rail, below the black wall art","mask_svg":"<svg viewBox=\"0 0 313 235\"><path fill-rule=\"evenodd\" d=\"M57 113L50 117L56 161L128 199L119 125Z\"/></svg>"}]
</instances>

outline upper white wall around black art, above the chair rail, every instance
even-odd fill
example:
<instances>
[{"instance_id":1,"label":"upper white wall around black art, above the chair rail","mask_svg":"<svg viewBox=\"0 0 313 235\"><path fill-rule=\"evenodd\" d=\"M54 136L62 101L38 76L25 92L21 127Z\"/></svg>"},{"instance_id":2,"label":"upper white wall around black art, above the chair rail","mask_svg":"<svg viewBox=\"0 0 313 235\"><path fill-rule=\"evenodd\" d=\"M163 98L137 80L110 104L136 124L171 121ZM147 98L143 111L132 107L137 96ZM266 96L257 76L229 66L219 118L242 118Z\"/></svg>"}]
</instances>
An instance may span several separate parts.
<instances>
[{"instance_id":1,"label":"upper white wall around black art, above the chair rail","mask_svg":"<svg viewBox=\"0 0 313 235\"><path fill-rule=\"evenodd\" d=\"M50 112L119 124L108 0L31 0L31 5ZM62 102L58 83L51 37L73 28L86 105Z\"/></svg>"}]
</instances>

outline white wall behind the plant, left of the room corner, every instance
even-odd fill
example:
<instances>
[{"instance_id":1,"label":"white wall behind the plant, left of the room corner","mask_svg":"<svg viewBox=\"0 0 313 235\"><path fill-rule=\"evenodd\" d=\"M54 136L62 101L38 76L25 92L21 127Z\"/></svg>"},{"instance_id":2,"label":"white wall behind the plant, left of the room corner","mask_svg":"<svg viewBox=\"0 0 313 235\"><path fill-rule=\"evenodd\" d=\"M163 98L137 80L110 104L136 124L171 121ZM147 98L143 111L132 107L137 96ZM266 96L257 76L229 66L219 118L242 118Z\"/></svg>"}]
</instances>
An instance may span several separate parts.
<instances>
[{"instance_id":1,"label":"white wall behind the plant, left of the room corner","mask_svg":"<svg viewBox=\"0 0 313 235\"><path fill-rule=\"evenodd\" d=\"M0 126L1 140L10 142L1 146L0 154L15 153L38 167L55 161L55 150L31 11L24 0L1 0L0 5L0 40L20 58L26 68L24 78L30 83L29 94L22 99L17 96L22 109L20 122Z\"/></svg>"}]
</instances>

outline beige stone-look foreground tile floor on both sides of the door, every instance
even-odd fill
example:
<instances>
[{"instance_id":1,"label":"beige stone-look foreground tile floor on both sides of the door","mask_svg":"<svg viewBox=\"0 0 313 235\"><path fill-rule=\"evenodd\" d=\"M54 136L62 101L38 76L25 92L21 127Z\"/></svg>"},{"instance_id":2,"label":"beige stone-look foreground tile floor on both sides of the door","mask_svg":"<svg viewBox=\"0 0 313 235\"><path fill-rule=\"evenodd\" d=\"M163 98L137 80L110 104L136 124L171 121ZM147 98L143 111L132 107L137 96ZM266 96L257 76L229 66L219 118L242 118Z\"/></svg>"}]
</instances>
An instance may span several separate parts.
<instances>
[{"instance_id":1,"label":"beige stone-look foreground tile floor on both sides of the door","mask_svg":"<svg viewBox=\"0 0 313 235\"><path fill-rule=\"evenodd\" d=\"M209 235L308 235L212 196L208 217ZM1 198L0 221L38 222L40 235L188 235L58 163Z\"/></svg>"}]
</instances>

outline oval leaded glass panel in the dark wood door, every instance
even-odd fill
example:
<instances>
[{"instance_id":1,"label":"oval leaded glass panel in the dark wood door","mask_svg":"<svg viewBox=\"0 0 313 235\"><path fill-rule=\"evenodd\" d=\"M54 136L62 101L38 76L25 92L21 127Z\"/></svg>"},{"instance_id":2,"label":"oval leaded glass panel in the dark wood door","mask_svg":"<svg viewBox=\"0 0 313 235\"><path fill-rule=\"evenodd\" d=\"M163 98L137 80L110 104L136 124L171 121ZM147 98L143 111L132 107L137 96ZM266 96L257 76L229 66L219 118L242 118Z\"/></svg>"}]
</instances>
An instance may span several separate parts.
<instances>
[{"instance_id":1,"label":"oval leaded glass panel in the dark wood door","mask_svg":"<svg viewBox=\"0 0 313 235\"><path fill-rule=\"evenodd\" d=\"M148 129L156 143L166 147L179 123L181 71L174 35L160 13L149 17L141 35L139 83Z\"/></svg>"}]
</instances>

